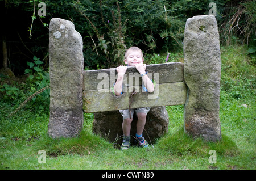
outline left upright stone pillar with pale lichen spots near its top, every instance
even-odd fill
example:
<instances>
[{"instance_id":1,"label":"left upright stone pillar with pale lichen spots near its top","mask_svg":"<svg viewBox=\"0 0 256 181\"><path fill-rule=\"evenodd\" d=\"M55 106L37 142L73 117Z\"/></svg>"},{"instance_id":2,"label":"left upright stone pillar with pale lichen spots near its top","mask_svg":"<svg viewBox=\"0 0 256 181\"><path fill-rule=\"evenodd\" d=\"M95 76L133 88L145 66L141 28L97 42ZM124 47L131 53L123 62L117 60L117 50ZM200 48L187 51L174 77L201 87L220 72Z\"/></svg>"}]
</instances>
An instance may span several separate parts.
<instances>
[{"instance_id":1,"label":"left upright stone pillar with pale lichen spots near its top","mask_svg":"<svg viewBox=\"0 0 256 181\"><path fill-rule=\"evenodd\" d=\"M51 82L48 134L75 137L83 124L82 37L72 22L51 19L49 25L49 75Z\"/></svg>"}]
</instances>

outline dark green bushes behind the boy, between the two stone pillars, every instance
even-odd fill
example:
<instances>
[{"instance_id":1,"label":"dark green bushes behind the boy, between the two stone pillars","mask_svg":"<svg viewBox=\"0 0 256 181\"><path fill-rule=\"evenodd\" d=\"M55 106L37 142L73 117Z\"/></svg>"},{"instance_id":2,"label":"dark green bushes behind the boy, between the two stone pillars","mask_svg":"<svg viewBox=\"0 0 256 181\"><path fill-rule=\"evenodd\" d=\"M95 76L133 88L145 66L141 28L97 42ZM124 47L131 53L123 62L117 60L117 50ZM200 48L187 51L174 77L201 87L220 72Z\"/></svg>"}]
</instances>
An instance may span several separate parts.
<instances>
[{"instance_id":1,"label":"dark green bushes behind the boy, between the two stone pillars","mask_svg":"<svg viewBox=\"0 0 256 181\"><path fill-rule=\"evenodd\" d=\"M125 49L132 45L141 47L145 53L181 50L185 21L189 14L205 14L208 3L77 1L71 7L79 13L79 17L73 16L69 10L65 16L73 20L84 37L85 66L94 65L96 69L96 65L100 64L102 68L110 68L122 64Z\"/></svg>"}]
</instances>

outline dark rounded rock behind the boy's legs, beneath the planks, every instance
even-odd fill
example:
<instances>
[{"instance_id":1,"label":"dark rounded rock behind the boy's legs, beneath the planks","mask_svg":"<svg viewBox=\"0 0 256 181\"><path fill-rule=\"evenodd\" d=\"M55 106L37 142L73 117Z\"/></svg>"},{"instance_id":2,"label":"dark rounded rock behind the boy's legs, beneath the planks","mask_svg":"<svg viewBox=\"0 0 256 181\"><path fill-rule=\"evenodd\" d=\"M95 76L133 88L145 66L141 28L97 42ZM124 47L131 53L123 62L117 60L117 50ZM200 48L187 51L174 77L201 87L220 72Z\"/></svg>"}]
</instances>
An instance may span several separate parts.
<instances>
[{"instance_id":1,"label":"dark rounded rock behind the boy's legs, beneath the planks","mask_svg":"<svg viewBox=\"0 0 256 181\"><path fill-rule=\"evenodd\" d=\"M133 144L136 134L137 115L134 112L133 122L131 123L131 144ZM122 144L123 117L119 111L108 111L94 113L93 132L100 135L110 142ZM143 131L148 144L154 144L157 138L160 138L168 132L169 116L164 106L151 107L147 113L146 125ZM134 137L133 137L134 136Z\"/></svg>"}]
</instances>

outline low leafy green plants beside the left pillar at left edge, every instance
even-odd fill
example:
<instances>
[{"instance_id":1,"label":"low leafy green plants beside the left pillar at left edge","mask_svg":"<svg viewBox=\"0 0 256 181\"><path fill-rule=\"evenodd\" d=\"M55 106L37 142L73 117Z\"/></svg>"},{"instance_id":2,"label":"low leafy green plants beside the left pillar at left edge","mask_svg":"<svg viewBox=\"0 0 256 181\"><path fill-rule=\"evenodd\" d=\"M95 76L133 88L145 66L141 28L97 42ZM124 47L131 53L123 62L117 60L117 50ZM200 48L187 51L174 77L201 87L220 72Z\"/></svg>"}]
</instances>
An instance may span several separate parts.
<instances>
[{"instance_id":1,"label":"low leafy green plants beside the left pillar at left edge","mask_svg":"<svg viewBox=\"0 0 256 181\"><path fill-rule=\"evenodd\" d=\"M25 70L25 74L28 74L28 78L26 82L20 82L18 78L13 81L6 77L3 78L3 82L6 83L0 85L1 99L15 105L15 109L26 100L24 105L27 108L38 113L48 112L49 90L46 89L42 93L32 96L35 92L49 85L49 73L43 70L42 64L43 62L36 56L34 56L34 62L27 62L28 69ZM29 100L27 100L28 98ZM32 101L30 101L30 98L32 98ZM10 110L9 113L11 113Z\"/></svg>"}]
</instances>

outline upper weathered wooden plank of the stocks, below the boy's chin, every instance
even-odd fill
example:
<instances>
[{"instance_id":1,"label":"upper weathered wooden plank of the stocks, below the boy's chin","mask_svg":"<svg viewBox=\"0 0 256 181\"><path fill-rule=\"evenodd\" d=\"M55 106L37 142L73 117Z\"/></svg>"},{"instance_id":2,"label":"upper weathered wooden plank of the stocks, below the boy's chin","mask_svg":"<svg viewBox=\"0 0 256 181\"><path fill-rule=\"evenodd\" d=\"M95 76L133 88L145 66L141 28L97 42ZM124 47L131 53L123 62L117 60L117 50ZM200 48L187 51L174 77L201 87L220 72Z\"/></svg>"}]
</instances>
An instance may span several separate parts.
<instances>
[{"instance_id":1,"label":"upper weathered wooden plank of the stocks, below the boy's chin","mask_svg":"<svg viewBox=\"0 0 256 181\"><path fill-rule=\"evenodd\" d=\"M147 65L146 71L148 71L148 76L157 83L183 82L183 67L184 64L181 62L152 64ZM117 71L115 68L84 71L83 90L109 89L115 82L116 75ZM126 77L123 82L129 83L130 86L141 85L141 77L136 68L127 67ZM131 85L131 82L133 82L133 85Z\"/></svg>"}]
</instances>

